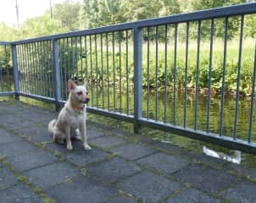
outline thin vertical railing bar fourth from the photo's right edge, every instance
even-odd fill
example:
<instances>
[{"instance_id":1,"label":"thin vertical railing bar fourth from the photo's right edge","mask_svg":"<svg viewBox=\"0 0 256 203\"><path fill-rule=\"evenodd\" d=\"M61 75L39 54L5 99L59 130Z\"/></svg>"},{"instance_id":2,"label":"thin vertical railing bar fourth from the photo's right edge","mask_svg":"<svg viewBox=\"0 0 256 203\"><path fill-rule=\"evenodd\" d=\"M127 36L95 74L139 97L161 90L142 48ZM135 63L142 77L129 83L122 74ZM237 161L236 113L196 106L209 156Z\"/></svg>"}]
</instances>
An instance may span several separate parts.
<instances>
[{"instance_id":1,"label":"thin vertical railing bar fourth from the photo's right edge","mask_svg":"<svg viewBox=\"0 0 256 203\"><path fill-rule=\"evenodd\" d=\"M207 96L207 117L206 117L206 132L209 133L209 110L211 102L211 80L212 80L212 66L213 66L213 45L214 45L214 19L211 19L210 31L210 47L209 47L209 80L208 80L208 96Z\"/></svg>"}]
</instances>

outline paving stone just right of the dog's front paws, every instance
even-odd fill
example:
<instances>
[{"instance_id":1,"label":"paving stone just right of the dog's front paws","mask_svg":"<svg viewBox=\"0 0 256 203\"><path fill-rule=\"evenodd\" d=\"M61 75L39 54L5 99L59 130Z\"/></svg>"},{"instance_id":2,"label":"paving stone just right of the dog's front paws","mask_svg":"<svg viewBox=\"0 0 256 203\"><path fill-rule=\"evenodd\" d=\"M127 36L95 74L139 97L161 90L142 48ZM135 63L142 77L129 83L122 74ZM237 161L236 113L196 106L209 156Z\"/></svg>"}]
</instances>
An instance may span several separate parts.
<instances>
[{"instance_id":1,"label":"paving stone just right of the dog's front paws","mask_svg":"<svg viewBox=\"0 0 256 203\"><path fill-rule=\"evenodd\" d=\"M119 137L115 137L112 135L99 137L93 140L90 140L92 145L96 145L97 147L101 147L103 149L109 149L114 145L124 144L125 140Z\"/></svg>"}]
</instances>

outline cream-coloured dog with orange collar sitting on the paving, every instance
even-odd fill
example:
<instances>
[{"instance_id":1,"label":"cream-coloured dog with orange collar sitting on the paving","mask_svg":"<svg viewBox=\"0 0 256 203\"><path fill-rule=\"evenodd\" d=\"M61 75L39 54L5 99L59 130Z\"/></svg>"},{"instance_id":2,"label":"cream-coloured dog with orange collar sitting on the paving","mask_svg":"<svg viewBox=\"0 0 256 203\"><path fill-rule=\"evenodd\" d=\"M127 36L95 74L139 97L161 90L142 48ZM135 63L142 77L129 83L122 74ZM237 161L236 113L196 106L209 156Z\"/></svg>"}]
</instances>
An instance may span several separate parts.
<instances>
[{"instance_id":1,"label":"cream-coloured dog with orange collar sitting on the paving","mask_svg":"<svg viewBox=\"0 0 256 203\"><path fill-rule=\"evenodd\" d=\"M48 124L48 131L53 134L53 140L64 144L66 140L67 149L72 150L71 138L82 140L84 148L91 150L86 137L86 104L89 102L87 85L75 85L72 80L68 81L70 91L69 99L58 114Z\"/></svg>"}]
</instances>

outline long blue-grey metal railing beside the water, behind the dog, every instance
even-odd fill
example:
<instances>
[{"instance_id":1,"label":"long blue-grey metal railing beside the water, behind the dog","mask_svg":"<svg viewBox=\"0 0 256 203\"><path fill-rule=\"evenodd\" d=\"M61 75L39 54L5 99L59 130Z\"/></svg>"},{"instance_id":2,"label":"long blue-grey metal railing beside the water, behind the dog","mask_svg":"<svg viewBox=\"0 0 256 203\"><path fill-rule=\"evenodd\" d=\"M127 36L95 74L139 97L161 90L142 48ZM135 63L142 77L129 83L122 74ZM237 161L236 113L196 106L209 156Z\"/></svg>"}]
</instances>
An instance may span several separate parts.
<instances>
[{"instance_id":1,"label":"long blue-grey metal railing beside the water, behind the dog","mask_svg":"<svg viewBox=\"0 0 256 203\"><path fill-rule=\"evenodd\" d=\"M150 126L193 139L255 153L256 145L252 141L255 56L253 67L251 67L254 71L248 137L237 139L242 41L245 37L244 18L253 14L256 14L256 3L247 3L24 41L1 42L0 47L5 49L9 47L9 50L11 47L12 50L14 90L11 89L9 82L5 86L0 83L0 87L5 87L4 90L0 88L0 96L7 94L14 94L17 98L29 96L55 102L58 106L67 99L67 80L73 79L81 84L86 80L90 85L92 96L88 111L134 123L136 132L141 125ZM238 19L240 22L236 105L233 134L225 134L223 130L225 68L229 25L233 19ZM205 26L208 28L205 29ZM212 130L209 127L213 87L211 81L214 69L214 37L217 28L218 37L223 41L223 59L219 128ZM204 33L205 30L207 34ZM192 31L194 38L191 36ZM181 52L180 38L185 44L184 52ZM195 56L192 56L190 50L191 40L196 43ZM202 41L209 42L208 96L203 121L199 119L200 109L198 109L198 91L202 82L199 79L202 69L200 67ZM8 49L6 50L5 55L8 55ZM190 64L190 56L195 57L194 68ZM185 58L184 69L181 69L179 62L181 57ZM0 61L3 62L3 59ZM160 63L162 61L164 63ZM6 68L7 60L5 63L5 66L0 65L2 78L3 67L9 70ZM161 64L164 68L160 67ZM194 72L190 74L192 69ZM163 79L159 81L160 77ZM4 80L8 81L8 79L10 75ZM188 87L189 82L192 82L192 87ZM182 107L177 98L181 84L184 89ZM160 90L161 86L164 87L163 90ZM163 100L160 101L161 95ZM193 97L192 105L189 104L188 95ZM193 115L189 122L188 117L191 115L188 115L188 108L193 108Z\"/></svg>"}]
</instances>

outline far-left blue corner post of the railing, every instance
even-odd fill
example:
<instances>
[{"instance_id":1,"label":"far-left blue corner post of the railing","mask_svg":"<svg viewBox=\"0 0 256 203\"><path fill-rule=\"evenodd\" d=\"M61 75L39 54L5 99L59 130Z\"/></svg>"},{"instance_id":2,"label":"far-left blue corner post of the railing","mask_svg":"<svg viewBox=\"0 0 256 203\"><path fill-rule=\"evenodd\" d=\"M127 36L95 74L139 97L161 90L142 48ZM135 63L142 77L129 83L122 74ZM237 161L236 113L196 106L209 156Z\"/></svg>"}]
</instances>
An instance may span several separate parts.
<instances>
[{"instance_id":1,"label":"far-left blue corner post of the railing","mask_svg":"<svg viewBox=\"0 0 256 203\"><path fill-rule=\"evenodd\" d=\"M12 45L12 59L14 69L14 93L15 100L19 101L19 69L17 60L17 48L16 45Z\"/></svg>"}]
</instances>

